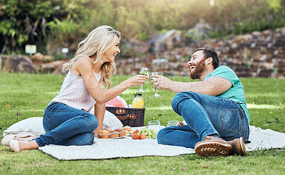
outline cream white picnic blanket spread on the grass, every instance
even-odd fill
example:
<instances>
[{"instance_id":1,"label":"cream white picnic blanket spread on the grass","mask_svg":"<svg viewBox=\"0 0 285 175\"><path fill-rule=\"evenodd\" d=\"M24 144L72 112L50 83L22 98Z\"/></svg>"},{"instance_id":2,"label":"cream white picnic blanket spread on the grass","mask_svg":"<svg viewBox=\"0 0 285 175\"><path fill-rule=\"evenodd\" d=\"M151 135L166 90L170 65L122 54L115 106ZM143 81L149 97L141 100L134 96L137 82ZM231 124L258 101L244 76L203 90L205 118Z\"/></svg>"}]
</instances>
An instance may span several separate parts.
<instances>
[{"instance_id":1,"label":"cream white picnic blanket spread on the grass","mask_svg":"<svg viewBox=\"0 0 285 175\"><path fill-rule=\"evenodd\" d=\"M255 149L278 149L285 147L285 134L271 129L250 126L247 152ZM177 141L179 142L179 141ZM95 139L90 146L48 145L39 148L60 160L111 159L119 157L163 156L172 157L181 154L195 154L194 149L157 144L156 139L135 140L131 137L122 139Z\"/></svg>"}]
</instances>

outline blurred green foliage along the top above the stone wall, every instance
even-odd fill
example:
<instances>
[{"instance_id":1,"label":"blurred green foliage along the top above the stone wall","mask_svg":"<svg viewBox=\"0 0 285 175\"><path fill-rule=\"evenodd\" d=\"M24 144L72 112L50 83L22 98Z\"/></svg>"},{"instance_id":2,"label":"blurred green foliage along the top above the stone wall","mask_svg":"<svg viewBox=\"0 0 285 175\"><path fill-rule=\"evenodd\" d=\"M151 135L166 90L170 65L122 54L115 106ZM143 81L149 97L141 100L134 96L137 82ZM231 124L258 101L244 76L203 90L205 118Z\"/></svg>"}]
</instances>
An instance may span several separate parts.
<instances>
[{"instance_id":1,"label":"blurred green foliage along the top above the stone wall","mask_svg":"<svg viewBox=\"0 0 285 175\"><path fill-rule=\"evenodd\" d=\"M74 47L101 25L147 41L203 20L220 38L285 26L284 9L285 0L0 0L0 53L24 53L26 44L41 53L47 44Z\"/></svg>"}]
</instances>

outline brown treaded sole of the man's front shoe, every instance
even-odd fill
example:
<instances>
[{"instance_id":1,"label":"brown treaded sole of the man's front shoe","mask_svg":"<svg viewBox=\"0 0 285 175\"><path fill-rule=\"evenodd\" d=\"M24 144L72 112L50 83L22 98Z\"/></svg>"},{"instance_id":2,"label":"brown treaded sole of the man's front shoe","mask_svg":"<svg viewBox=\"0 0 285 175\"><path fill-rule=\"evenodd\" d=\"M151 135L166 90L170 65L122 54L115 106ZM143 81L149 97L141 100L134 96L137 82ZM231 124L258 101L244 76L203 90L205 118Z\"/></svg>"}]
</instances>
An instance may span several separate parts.
<instances>
[{"instance_id":1,"label":"brown treaded sole of the man's front shoe","mask_svg":"<svg viewBox=\"0 0 285 175\"><path fill-rule=\"evenodd\" d=\"M198 142L195 145L195 152L201 157L207 156L226 156L232 146L229 144L222 144L219 142Z\"/></svg>"}]
</instances>

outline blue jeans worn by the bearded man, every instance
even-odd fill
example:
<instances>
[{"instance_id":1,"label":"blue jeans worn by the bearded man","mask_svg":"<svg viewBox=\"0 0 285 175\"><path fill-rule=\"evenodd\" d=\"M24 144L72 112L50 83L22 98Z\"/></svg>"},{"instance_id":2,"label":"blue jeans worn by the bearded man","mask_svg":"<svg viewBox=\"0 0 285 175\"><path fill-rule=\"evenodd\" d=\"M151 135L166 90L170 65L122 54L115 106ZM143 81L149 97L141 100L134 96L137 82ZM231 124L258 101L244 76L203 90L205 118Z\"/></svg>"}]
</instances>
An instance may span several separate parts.
<instances>
[{"instance_id":1,"label":"blue jeans worn by the bearded man","mask_svg":"<svg viewBox=\"0 0 285 175\"><path fill-rule=\"evenodd\" d=\"M172 109L187 125L165 127L157 134L159 144L194 148L207 135L224 140L249 139L249 122L242 107L233 100L195 92L179 92L172 99Z\"/></svg>"}]
</instances>

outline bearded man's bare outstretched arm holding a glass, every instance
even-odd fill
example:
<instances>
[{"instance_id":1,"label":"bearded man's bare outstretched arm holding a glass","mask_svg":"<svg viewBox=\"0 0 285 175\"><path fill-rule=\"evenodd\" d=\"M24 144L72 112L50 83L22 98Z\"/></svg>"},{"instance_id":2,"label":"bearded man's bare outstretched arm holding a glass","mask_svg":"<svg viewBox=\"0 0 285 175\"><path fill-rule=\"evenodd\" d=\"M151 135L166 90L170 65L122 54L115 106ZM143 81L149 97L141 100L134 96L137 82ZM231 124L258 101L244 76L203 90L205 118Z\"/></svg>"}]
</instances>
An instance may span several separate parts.
<instances>
[{"instance_id":1,"label":"bearded man's bare outstretched arm holding a glass","mask_svg":"<svg viewBox=\"0 0 285 175\"><path fill-rule=\"evenodd\" d=\"M153 75L152 83L160 90L170 90L172 92L192 91L204 95L217 96L232 87L232 83L225 78L213 77L206 81L182 83L175 82L162 75Z\"/></svg>"}]
</instances>

